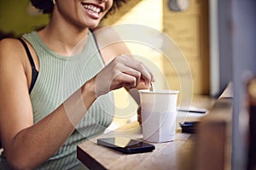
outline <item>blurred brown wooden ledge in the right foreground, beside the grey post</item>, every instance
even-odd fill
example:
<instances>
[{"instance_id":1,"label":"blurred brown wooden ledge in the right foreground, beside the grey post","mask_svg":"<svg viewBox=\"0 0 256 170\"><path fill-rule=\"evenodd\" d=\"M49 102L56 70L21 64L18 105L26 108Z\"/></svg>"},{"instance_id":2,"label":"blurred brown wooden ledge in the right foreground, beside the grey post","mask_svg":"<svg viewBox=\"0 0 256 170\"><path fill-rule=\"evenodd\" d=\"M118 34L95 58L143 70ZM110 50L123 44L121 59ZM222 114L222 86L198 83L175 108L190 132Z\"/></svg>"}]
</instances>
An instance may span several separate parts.
<instances>
[{"instance_id":1,"label":"blurred brown wooden ledge in the right foreground, beside the grey post","mask_svg":"<svg viewBox=\"0 0 256 170\"><path fill-rule=\"evenodd\" d=\"M196 170L230 170L233 84L216 100L211 114L203 117L196 139Z\"/></svg>"}]
</instances>

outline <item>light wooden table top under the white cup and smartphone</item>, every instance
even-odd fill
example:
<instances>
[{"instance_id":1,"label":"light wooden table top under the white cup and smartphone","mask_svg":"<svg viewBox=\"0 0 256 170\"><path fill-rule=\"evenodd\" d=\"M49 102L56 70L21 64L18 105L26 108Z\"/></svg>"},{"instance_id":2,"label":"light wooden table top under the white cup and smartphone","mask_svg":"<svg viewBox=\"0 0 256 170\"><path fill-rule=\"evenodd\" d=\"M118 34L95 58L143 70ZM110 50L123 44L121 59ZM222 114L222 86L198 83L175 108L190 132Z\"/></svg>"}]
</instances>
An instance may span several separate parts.
<instances>
[{"instance_id":1,"label":"light wooden table top under the white cup and smartphone","mask_svg":"<svg viewBox=\"0 0 256 170\"><path fill-rule=\"evenodd\" d=\"M190 119L187 117L186 121L195 121L203 116L203 114L196 115L195 113L194 115L190 115ZM141 126L138 122L131 122L118 130L104 133L96 139L79 144L77 147L77 157L90 169L190 170L194 166L195 135L181 133L181 130L178 129L174 141L154 144L155 150L152 152L131 155L125 155L119 151L96 144L96 139L117 136L142 140Z\"/></svg>"}]
</instances>

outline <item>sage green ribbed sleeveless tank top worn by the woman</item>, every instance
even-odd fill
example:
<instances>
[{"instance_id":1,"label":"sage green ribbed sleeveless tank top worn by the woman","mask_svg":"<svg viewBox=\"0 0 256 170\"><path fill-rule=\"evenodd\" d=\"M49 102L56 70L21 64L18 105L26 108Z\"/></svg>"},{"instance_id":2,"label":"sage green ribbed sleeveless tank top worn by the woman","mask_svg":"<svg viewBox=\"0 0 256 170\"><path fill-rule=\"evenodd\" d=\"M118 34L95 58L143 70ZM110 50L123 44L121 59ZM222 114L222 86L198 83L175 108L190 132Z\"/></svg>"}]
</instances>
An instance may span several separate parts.
<instances>
[{"instance_id":1,"label":"sage green ribbed sleeveless tank top worn by the woman","mask_svg":"<svg viewBox=\"0 0 256 170\"><path fill-rule=\"evenodd\" d=\"M104 63L92 32L89 33L82 53L71 57L55 54L42 42L36 31L23 37L32 44L38 54L40 64L38 79L30 94L34 123L36 123L48 116L84 82L102 70ZM96 99L70 138L54 156L49 158L49 161L44 162L38 169L74 169L77 167L80 163L76 158L77 144L103 133L112 122L113 113L112 92Z\"/></svg>"}]
</instances>

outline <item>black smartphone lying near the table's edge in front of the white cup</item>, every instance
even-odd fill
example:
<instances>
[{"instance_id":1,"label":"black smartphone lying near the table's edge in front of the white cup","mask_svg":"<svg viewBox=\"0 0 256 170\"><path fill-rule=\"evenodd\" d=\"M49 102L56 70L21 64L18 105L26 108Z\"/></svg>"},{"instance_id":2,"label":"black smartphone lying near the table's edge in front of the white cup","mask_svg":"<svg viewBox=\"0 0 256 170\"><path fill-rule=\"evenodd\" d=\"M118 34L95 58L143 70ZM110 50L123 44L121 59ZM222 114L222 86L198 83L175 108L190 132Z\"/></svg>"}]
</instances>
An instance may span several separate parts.
<instances>
[{"instance_id":1,"label":"black smartphone lying near the table's edge in front of the white cup","mask_svg":"<svg viewBox=\"0 0 256 170\"><path fill-rule=\"evenodd\" d=\"M125 137L97 139L97 144L107 146L125 154L143 153L154 150L153 144Z\"/></svg>"}]
</instances>

